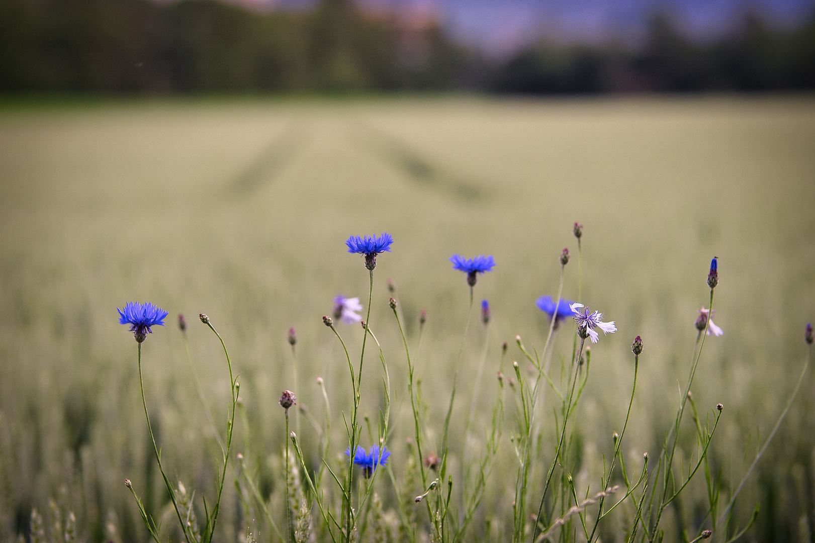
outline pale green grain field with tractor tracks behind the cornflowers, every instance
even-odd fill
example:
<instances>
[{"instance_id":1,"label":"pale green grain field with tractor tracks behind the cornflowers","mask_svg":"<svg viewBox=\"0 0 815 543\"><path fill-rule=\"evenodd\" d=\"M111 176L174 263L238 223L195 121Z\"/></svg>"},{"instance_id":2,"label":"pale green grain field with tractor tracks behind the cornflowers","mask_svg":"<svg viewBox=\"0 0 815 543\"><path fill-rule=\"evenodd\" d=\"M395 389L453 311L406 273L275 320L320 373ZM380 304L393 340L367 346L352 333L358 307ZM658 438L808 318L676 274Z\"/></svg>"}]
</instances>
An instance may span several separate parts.
<instances>
[{"instance_id":1,"label":"pale green grain field with tractor tracks behind the cornflowers","mask_svg":"<svg viewBox=\"0 0 815 543\"><path fill-rule=\"evenodd\" d=\"M367 305L368 272L343 242L372 232L390 232L395 240L393 252L378 258L370 325L389 364L388 443L397 478L413 420L385 280L396 285L414 349L416 316L423 308L428 313L414 355L433 443L469 301L464 276L447 258L496 258L495 271L479 276L475 287L476 302L489 299L492 311L477 410L476 426L483 427L496 395L501 342L510 343L507 374L512 360L526 365L516 334L527 347L543 348L548 323L535 299L557 294L563 247L572 254L563 295L578 297L571 225L579 221L582 301L615 320L619 331L593 346L592 376L575 415L574 447L582 457L573 474L577 493L600 484L602 455L610 455L610 435L628 407L630 349L638 334L645 352L624 456L636 466L643 452L659 452L687 378L696 310L707 306L714 255L720 258L715 321L725 335L707 338L692 391L700 411L725 405L710 454L723 487L733 488L806 357L804 326L815 320L813 181L811 97L2 108L0 539L13 541L33 506L47 517L53 498L76 513L81 541L147 541L123 484L127 477L178 541L146 435L136 344L117 320L116 308L128 301L170 311L168 325L143 344L143 368L171 478L196 488L196 499L205 493L209 500L213 492L218 448L175 325L178 313L187 316L200 383L223 428L228 373L217 338L196 318L205 312L241 375L248 427L236 428L236 451L256 466L263 492L271 492L280 512L284 417L277 399L280 391L295 390L287 331L293 326L299 337L299 404L322 420L315 378L323 377L331 450L340 461L347 447L341 412L350 408L348 366L321 316L332 311L338 293ZM363 330L337 328L359 352ZM558 371L557 360L568 359L572 347L571 332L560 332ZM484 339L485 327L474 321L453 412L457 444L465 439ZM381 403L375 351L366 351L366 366L362 409L373 418ZM761 505L748 532L755 541L809 541L813 398L809 373L739 497L735 519L742 525ZM553 396L546 400L538 479L557 441ZM503 443L468 540L511 535L517 458L507 401ZM299 435L306 456L319 464L317 431L308 420L303 414ZM689 419L685 426L676 466L686 471L695 442ZM274 541L261 518L246 514L233 479L230 471L218 541L235 541L247 528L260 541ZM385 509L393 507L390 479L377 485ZM532 495L540 499L540 489ZM692 532L702 523L703 475L683 496L667 511L667 541L680 539L677 525ZM630 514L621 511L607 523L603 541L625 541Z\"/></svg>"}]
</instances>

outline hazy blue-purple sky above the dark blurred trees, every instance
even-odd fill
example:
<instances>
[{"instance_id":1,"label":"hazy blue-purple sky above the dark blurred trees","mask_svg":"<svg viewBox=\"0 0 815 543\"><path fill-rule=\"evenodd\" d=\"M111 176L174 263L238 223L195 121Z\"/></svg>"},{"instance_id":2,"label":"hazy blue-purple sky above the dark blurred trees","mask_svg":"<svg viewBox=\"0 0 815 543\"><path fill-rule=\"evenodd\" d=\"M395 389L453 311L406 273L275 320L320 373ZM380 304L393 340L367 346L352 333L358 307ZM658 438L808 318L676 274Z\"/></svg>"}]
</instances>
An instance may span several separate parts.
<instances>
[{"instance_id":1,"label":"hazy blue-purple sky above the dark blurred trees","mask_svg":"<svg viewBox=\"0 0 815 543\"><path fill-rule=\"evenodd\" d=\"M233 0L269 7L309 0ZM815 15L815 0L357 0L372 7L431 11L454 38L494 54L510 54L535 38L559 42L636 42L654 11L675 16L687 35L716 38L747 11L791 27Z\"/></svg>"}]
</instances>

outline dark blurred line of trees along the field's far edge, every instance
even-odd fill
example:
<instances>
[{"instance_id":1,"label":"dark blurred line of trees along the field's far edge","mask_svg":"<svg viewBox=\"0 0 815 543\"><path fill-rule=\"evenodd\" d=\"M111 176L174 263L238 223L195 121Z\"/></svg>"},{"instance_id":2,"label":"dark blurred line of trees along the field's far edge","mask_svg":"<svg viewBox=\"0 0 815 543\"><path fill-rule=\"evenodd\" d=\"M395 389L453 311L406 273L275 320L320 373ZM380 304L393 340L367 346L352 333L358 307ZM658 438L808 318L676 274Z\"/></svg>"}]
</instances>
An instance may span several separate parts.
<instances>
[{"instance_id":1,"label":"dark blurred line of trees along the field's far edge","mask_svg":"<svg viewBox=\"0 0 815 543\"><path fill-rule=\"evenodd\" d=\"M218 0L0 0L4 94L813 88L815 14L791 30L746 15L706 43L657 14L638 47L541 39L499 61L454 42L432 17L375 14L351 0L269 12Z\"/></svg>"}]
</instances>

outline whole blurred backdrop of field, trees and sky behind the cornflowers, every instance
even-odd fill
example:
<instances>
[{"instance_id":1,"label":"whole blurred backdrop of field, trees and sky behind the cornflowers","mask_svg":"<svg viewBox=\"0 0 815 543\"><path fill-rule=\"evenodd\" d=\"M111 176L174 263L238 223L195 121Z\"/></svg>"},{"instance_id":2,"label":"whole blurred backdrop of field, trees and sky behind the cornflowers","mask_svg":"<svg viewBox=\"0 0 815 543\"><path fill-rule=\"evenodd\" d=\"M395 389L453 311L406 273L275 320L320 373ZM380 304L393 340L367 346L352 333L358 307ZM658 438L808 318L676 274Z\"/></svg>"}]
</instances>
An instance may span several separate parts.
<instances>
[{"instance_id":1,"label":"whole blurred backdrop of field, trees and sky behind the cornflowers","mask_svg":"<svg viewBox=\"0 0 815 543\"><path fill-rule=\"evenodd\" d=\"M626 461L641 466L643 452L659 452L714 255L715 321L725 335L708 338L693 393L702 417L725 404L711 470L734 488L786 403L807 354L804 325L815 319L813 6L0 0L0 538L29 541L36 507L49 522L56 510L73 511L81 541L147 541L126 477L172 525L141 411L136 345L117 322L116 307L134 300L170 311L145 342L143 364L171 477L196 497L212 495L218 448L175 324L187 316L196 372L223 426L227 371L196 318L206 312L241 375L248 424L236 429L236 450L280 514L277 399L297 389L304 452L319 466L309 416L323 416L322 377L333 413L329 461L341 461L347 367L321 316L337 294L365 302L368 272L343 241L383 231L394 250L378 259L371 326L390 364L399 483L412 416L386 280L416 350L435 443L468 302L447 258L493 254L498 263L476 286L492 320L470 329L454 411L465 419L486 341L483 427L501 342L510 343L504 364L524 364L516 334L543 347L547 322L535 298L557 293L563 247L572 254L564 296L577 298L579 221L583 301L619 332L593 347L575 425L580 460L569 466L578 493L597 488L625 417L638 334L645 353ZM428 322L418 345L421 309ZM359 347L359 327L340 331ZM553 352L557 376L571 353L568 329ZM363 380L372 417L381 404L375 354ZM740 525L760 505L750 541L815 537L813 397L809 373L737 502ZM557 446L553 400L541 409L540 466ZM511 535L511 404L508 396L472 540ZM685 467L696 451L686 425ZM457 444L463 426L453 424ZM235 475L218 541L240 541L248 529L271 541ZM398 497L380 483L393 510ZM706 504L698 476L667 511L666 541L707 527ZM624 541L631 514L611 519L603 541Z\"/></svg>"}]
</instances>

